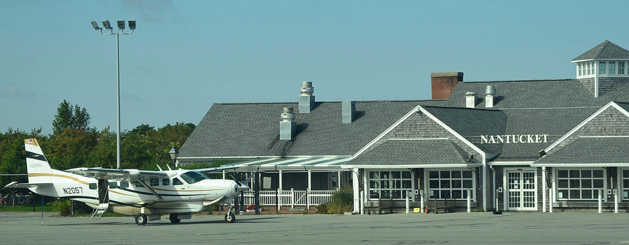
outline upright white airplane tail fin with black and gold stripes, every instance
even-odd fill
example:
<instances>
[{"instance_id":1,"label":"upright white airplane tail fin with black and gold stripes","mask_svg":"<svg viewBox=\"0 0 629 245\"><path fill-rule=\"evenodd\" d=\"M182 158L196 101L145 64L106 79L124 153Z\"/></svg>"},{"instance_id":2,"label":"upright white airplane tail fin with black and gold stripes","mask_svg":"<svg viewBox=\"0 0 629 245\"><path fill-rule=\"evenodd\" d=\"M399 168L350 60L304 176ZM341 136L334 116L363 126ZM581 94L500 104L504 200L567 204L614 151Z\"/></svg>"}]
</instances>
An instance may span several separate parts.
<instances>
[{"instance_id":1,"label":"upright white airplane tail fin with black and gold stripes","mask_svg":"<svg viewBox=\"0 0 629 245\"><path fill-rule=\"evenodd\" d=\"M24 148L26 150L26 171L28 172L29 183L50 182L52 177L52 169L48 160L43 155L42 147L35 138L26 138L24 140Z\"/></svg>"}]
</instances>

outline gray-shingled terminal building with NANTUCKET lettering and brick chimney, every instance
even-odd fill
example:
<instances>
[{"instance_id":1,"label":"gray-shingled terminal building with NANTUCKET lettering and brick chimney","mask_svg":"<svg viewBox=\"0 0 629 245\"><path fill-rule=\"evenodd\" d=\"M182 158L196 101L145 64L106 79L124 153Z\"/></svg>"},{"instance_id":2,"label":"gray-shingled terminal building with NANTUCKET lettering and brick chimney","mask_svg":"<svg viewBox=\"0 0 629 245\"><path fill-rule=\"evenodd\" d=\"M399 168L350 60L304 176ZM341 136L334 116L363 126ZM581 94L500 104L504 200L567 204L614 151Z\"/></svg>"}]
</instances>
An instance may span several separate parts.
<instances>
[{"instance_id":1,"label":"gray-shingled terminal building with NANTUCKET lettering and brick chimney","mask_svg":"<svg viewBox=\"0 0 629 245\"><path fill-rule=\"evenodd\" d=\"M235 161L267 189L352 188L354 209L420 195L472 209L629 210L629 51L604 41L576 78L464 81L431 73L431 100L214 103L178 162ZM325 93L325 91L324 91Z\"/></svg>"}]
</instances>

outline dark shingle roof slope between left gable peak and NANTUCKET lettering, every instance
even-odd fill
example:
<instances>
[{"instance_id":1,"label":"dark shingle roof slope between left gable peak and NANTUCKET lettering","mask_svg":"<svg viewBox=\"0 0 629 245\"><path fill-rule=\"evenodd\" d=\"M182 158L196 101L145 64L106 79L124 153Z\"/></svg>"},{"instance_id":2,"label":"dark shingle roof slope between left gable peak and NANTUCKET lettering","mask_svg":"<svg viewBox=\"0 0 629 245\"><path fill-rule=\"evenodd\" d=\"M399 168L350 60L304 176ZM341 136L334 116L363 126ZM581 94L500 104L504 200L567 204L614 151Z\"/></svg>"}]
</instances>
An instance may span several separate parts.
<instances>
[{"instance_id":1,"label":"dark shingle roof slope between left gable peak and NANTUCKET lettering","mask_svg":"<svg viewBox=\"0 0 629 245\"><path fill-rule=\"evenodd\" d=\"M484 152L498 154L502 151L502 144L475 143L475 139L480 135L503 135L507 120L503 111L430 106L423 108Z\"/></svg>"}]
</instances>

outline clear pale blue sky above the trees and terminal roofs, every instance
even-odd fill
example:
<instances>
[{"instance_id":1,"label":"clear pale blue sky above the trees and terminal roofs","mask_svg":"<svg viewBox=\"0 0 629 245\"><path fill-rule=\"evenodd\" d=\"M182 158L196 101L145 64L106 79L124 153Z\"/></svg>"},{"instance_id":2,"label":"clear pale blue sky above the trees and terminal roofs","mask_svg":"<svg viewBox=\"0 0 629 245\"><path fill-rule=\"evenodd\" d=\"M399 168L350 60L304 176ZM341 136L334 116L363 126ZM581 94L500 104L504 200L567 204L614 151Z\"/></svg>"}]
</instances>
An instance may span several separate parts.
<instances>
[{"instance_id":1,"label":"clear pale blue sky above the trees and terminal roofs","mask_svg":"<svg viewBox=\"0 0 629 245\"><path fill-rule=\"evenodd\" d=\"M63 100L116 127L197 124L213 103L430 99L430 73L465 81L575 78L572 58L629 48L629 1L0 1L0 131L42 127ZM116 29L116 28L114 28ZM253 113L253 112L248 112ZM279 113L279 112L278 112Z\"/></svg>"}]
</instances>

